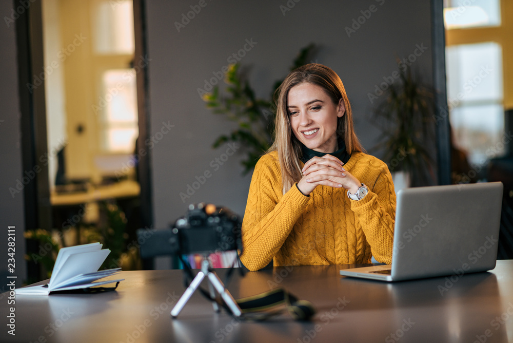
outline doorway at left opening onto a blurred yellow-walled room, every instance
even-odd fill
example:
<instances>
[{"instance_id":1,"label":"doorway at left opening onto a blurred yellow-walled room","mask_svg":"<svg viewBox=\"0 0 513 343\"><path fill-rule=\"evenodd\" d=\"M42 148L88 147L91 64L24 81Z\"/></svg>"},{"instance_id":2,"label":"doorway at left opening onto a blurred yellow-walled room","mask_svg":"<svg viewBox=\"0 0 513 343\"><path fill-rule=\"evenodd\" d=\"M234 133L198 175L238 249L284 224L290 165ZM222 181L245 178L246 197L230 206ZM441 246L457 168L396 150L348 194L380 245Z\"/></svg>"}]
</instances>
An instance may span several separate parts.
<instances>
[{"instance_id":1,"label":"doorway at left opening onto a blurred yellow-walled room","mask_svg":"<svg viewBox=\"0 0 513 343\"><path fill-rule=\"evenodd\" d=\"M39 243L29 256L43 257L45 240L101 241L111 250L106 267L137 269L137 251L128 247L136 246L137 228L151 226L148 156L135 153L147 124L141 2L42 0L40 6L31 14L40 14L42 47L31 51L27 87L33 97L44 94L34 117L44 117L46 135L34 143L46 152L33 163L48 170L36 192L48 206L39 206L37 222L27 226L27 237ZM37 39L30 37L31 46L41 46Z\"/></svg>"}]
</instances>

